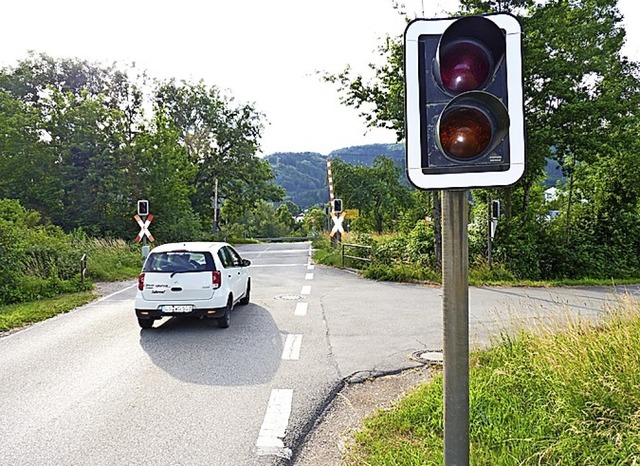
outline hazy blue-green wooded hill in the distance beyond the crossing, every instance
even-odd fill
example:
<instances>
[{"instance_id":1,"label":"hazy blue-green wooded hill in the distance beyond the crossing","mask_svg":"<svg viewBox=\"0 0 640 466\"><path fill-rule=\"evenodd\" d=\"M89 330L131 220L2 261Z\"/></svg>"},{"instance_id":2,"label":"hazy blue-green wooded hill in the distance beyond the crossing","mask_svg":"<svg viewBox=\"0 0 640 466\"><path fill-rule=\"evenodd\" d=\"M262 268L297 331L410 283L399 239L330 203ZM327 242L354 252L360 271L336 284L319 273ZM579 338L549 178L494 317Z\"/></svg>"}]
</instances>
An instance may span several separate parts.
<instances>
[{"instance_id":1,"label":"hazy blue-green wooded hill in the distance beyond the crossing","mask_svg":"<svg viewBox=\"0 0 640 466\"><path fill-rule=\"evenodd\" d=\"M404 168L402 144L369 144L332 151L328 156L317 152L276 152L265 157L276 182L287 192L287 200L303 209L329 202L327 157L340 158L352 165L371 165L379 155L392 158Z\"/></svg>"}]
</instances>

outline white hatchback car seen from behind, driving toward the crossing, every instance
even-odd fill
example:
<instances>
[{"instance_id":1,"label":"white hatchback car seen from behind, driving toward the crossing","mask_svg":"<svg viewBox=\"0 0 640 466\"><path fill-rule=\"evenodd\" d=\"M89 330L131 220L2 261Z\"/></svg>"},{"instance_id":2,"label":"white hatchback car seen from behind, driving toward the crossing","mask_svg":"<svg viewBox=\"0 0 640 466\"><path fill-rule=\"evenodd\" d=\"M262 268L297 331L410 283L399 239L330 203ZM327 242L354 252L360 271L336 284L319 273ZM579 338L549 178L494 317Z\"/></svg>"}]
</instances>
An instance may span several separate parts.
<instances>
[{"instance_id":1,"label":"white hatchback car seen from behind, driving toward the crossing","mask_svg":"<svg viewBox=\"0 0 640 466\"><path fill-rule=\"evenodd\" d=\"M153 248L138 277L136 316L142 328L164 316L197 316L229 327L236 303L248 304L251 262L228 243L171 243Z\"/></svg>"}]
</instances>

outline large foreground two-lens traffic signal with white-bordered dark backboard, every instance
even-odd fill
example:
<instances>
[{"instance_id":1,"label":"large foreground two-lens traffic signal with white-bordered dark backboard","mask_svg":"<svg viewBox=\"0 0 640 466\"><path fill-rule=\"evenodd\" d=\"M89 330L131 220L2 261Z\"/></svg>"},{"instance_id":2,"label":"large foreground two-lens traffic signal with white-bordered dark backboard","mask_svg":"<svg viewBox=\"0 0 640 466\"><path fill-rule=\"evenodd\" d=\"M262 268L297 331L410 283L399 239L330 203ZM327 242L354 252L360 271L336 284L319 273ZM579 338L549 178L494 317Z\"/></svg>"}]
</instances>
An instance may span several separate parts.
<instances>
[{"instance_id":1,"label":"large foreground two-lens traffic signal with white-bordered dark backboard","mask_svg":"<svg viewBox=\"0 0 640 466\"><path fill-rule=\"evenodd\" d=\"M524 173L522 28L509 14L405 31L407 175L422 189L508 186Z\"/></svg>"}]
</instances>

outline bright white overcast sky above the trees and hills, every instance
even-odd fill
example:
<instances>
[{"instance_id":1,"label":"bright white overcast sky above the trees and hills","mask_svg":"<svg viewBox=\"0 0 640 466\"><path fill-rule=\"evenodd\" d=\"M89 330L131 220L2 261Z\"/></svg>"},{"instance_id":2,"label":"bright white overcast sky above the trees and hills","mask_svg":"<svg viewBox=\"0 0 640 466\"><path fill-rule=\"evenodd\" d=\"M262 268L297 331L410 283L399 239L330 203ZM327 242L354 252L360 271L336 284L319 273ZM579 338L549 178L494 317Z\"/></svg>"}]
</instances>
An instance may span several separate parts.
<instances>
[{"instance_id":1,"label":"bright white overcast sky above the trees and hills","mask_svg":"<svg viewBox=\"0 0 640 466\"><path fill-rule=\"evenodd\" d=\"M625 23L637 0L619 0ZM380 39L400 36L393 0L19 0L2 6L0 66L28 50L121 65L228 90L266 115L262 152L319 152L395 142L367 129L317 71L347 64L368 75ZM401 0L411 16L443 17L455 0ZM637 24L637 21L636 21ZM640 28L627 27L627 53L640 59Z\"/></svg>"}]
</instances>

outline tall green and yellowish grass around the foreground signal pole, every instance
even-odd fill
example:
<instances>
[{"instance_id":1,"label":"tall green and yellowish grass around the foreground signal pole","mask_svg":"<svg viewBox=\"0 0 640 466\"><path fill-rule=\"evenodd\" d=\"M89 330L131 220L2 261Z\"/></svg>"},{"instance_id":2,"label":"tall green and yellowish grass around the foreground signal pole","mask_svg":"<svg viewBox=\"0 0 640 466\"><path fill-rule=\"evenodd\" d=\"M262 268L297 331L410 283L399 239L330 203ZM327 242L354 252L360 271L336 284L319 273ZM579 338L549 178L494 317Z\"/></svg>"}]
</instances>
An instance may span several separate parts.
<instances>
[{"instance_id":1,"label":"tall green and yellowish grass around the foreground signal pole","mask_svg":"<svg viewBox=\"0 0 640 466\"><path fill-rule=\"evenodd\" d=\"M436 377L368 419L345 464L441 465L442 419ZM473 353L470 443L473 465L640 464L638 303Z\"/></svg>"}]
</instances>

